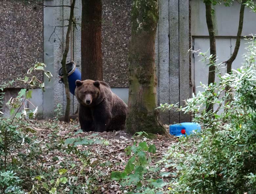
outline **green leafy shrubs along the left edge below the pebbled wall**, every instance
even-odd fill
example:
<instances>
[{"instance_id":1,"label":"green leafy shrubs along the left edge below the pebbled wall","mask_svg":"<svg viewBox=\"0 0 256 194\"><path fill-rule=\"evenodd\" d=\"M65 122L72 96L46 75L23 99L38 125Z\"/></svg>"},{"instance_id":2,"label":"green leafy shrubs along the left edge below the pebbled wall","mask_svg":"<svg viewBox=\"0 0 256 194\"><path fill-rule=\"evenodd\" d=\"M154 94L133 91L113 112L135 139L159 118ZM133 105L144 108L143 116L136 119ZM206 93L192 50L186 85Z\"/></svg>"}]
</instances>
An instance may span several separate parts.
<instances>
[{"instance_id":1,"label":"green leafy shrubs along the left edge below the pebbled wall","mask_svg":"<svg viewBox=\"0 0 256 194\"><path fill-rule=\"evenodd\" d=\"M25 85L28 85L28 88L23 88L18 92L17 97L11 97L7 102L7 105L10 107L10 115L12 116L12 119L0 117L0 167L1 169L4 169L0 171L1 193L24 193L20 177L23 177L24 174L26 176L26 172L20 170L24 170L24 168L21 168L24 161L29 162L30 160L26 158L26 154L20 153L19 150L22 148L24 149L25 144L30 145L30 143L32 143L32 139L28 137L27 132L34 132L32 128L28 127L28 124L24 119L34 118L37 113L37 107L34 106L34 110L29 110L25 107L24 102L27 101L31 103L29 98L32 97L32 90L30 90L30 88L39 87L44 91L44 83L36 79L36 77L31 74L33 71L38 70L45 72L44 67L44 63L36 63L34 67L28 70L27 76L25 76L24 79L17 78L9 81L8 83L3 83L0 86L0 107L2 107L5 88L10 88L14 82L20 81L24 82ZM52 77L51 73L47 71L45 73L49 76L50 81L50 77ZM24 107L23 110L22 107ZM0 112L0 114L3 113ZM23 130L24 132L22 132ZM36 144L33 146L35 145ZM28 149L29 148L30 146ZM33 151L38 151L38 149L33 147L30 154L34 154ZM15 155L15 157L13 157L13 155Z\"/></svg>"}]
</instances>

